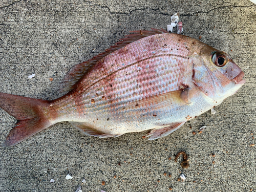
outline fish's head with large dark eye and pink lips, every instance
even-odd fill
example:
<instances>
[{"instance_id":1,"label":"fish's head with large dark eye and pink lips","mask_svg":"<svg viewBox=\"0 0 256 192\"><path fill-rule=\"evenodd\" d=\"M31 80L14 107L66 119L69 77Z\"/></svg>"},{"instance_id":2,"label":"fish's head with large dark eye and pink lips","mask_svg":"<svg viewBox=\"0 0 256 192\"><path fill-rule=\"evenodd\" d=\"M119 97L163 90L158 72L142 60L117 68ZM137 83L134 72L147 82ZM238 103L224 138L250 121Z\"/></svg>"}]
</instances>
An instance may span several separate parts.
<instances>
[{"instance_id":1,"label":"fish's head with large dark eye and pink lips","mask_svg":"<svg viewBox=\"0 0 256 192\"><path fill-rule=\"evenodd\" d=\"M230 56L210 46L193 57L193 82L207 97L214 101L236 93L246 82L244 72Z\"/></svg>"}]
</instances>

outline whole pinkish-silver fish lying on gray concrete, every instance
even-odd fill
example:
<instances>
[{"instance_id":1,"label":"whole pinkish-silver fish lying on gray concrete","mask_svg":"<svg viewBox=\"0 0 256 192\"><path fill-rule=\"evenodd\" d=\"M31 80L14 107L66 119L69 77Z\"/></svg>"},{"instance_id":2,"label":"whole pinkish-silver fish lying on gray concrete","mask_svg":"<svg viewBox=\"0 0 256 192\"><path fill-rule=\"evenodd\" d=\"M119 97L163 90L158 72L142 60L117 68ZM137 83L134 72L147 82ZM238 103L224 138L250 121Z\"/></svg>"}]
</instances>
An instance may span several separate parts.
<instances>
[{"instance_id":1,"label":"whole pinkish-silver fish lying on gray concrete","mask_svg":"<svg viewBox=\"0 0 256 192\"><path fill-rule=\"evenodd\" d=\"M54 100L0 93L0 107L17 119L2 146L68 121L99 138L142 132L167 136L215 108L246 82L230 56L164 29L131 31L63 78Z\"/></svg>"}]
</instances>

